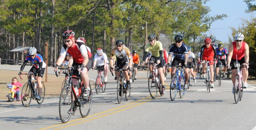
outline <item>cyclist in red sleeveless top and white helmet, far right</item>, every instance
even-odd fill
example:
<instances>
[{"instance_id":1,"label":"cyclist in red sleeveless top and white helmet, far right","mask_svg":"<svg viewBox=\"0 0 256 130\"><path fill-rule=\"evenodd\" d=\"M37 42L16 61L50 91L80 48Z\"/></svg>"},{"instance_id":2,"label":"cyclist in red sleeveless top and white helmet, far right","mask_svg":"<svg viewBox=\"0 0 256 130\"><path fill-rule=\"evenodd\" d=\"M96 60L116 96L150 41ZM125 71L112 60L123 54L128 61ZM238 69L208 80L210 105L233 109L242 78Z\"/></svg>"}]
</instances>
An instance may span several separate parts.
<instances>
[{"instance_id":1,"label":"cyclist in red sleeveless top and white helmet, far right","mask_svg":"<svg viewBox=\"0 0 256 130\"><path fill-rule=\"evenodd\" d=\"M228 49L228 58L227 58L227 68L231 67L232 70L232 82L233 88L232 93L234 93L234 82L236 78L236 67L234 67L234 62L237 62L241 65L241 70L243 72L243 81L244 88L248 87L247 78L248 78L248 68L249 68L249 46L244 42L244 35L242 33L236 33L234 39L236 41L232 42Z\"/></svg>"}]
</instances>

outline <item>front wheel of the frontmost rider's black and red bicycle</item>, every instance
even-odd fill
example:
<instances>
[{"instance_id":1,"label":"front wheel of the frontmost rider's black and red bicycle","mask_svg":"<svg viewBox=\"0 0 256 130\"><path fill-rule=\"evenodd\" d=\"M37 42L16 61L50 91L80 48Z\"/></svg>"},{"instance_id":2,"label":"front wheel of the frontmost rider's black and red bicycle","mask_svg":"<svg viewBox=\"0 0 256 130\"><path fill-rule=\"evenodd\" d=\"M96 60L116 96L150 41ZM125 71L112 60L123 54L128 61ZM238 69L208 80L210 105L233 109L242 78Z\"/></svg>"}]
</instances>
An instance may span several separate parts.
<instances>
[{"instance_id":1,"label":"front wheel of the frontmost rider's black and red bicycle","mask_svg":"<svg viewBox=\"0 0 256 130\"><path fill-rule=\"evenodd\" d=\"M59 114L60 120L63 123L68 122L70 116L73 112L73 93L70 87L70 84L66 84L61 93L60 93L60 101L59 101Z\"/></svg>"}]
</instances>

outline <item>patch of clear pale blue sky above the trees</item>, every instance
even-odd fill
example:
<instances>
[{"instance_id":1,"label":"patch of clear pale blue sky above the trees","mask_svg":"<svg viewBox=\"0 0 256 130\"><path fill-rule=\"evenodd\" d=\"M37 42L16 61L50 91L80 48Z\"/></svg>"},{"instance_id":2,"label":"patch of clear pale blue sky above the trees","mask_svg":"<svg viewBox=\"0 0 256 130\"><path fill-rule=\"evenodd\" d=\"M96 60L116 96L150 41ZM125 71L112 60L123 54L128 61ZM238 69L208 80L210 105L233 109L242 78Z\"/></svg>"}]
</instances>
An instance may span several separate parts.
<instances>
[{"instance_id":1,"label":"patch of clear pale blue sky above the trees","mask_svg":"<svg viewBox=\"0 0 256 130\"><path fill-rule=\"evenodd\" d=\"M252 2L256 4L256 1ZM256 17L256 12L246 13L245 10L248 9L247 4L244 0L209 0L204 4L204 6L209 6L211 12L210 16L216 16L221 14L228 15L227 18L222 20L217 20L211 24L209 31L205 34L210 36L214 35L217 40L223 43L228 43L228 36L231 36L231 27L238 29L242 27L242 19L251 19L251 17Z\"/></svg>"}]
</instances>

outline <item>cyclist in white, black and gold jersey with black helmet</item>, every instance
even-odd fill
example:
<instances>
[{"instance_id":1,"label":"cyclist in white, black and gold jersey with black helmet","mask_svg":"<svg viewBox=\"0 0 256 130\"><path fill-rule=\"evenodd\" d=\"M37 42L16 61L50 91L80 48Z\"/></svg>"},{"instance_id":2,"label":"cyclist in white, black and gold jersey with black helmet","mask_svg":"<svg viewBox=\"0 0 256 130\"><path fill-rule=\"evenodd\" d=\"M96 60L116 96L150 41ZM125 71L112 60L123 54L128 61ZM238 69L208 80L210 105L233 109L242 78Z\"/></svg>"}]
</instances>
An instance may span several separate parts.
<instances>
[{"instance_id":1,"label":"cyclist in white, black and gold jersey with black helmet","mask_svg":"<svg viewBox=\"0 0 256 130\"><path fill-rule=\"evenodd\" d=\"M132 56L130 54L130 50L127 47L124 47L123 40L116 41L116 47L112 49L110 54L110 72L114 71L114 55L116 55L116 69L123 68L124 70L131 71L132 68ZM124 71L127 89L131 89L130 84L130 76L128 75L128 71ZM117 76L120 75L120 72L117 72Z\"/></svg>"}]
</instances>

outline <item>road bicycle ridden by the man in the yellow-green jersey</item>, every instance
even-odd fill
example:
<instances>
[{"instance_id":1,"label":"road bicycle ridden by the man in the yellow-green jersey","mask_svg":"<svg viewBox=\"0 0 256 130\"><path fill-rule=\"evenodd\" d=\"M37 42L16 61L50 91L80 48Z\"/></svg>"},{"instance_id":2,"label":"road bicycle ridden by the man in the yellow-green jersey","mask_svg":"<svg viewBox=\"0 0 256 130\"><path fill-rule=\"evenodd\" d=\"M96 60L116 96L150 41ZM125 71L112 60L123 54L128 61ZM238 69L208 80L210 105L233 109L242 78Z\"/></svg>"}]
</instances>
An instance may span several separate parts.
<instances>
[{"instance_id":1,"label":"road bicycle ridden by the man in the yellow-green jersey","mask_svg":"<svg viewBox=\"0 0 256 130\"><path fill-rule=\"evenodd\" d=\"M160 95L163 96L163 94L161 94L162 82L160 80L160 74L158 73L159 65L154 62L150 62L148 63L148 66L152 66L152 72L148 78L148 90L151 97L154 99L158 93L157 89L159 90Z\"/></svg>"}]
</instances>

